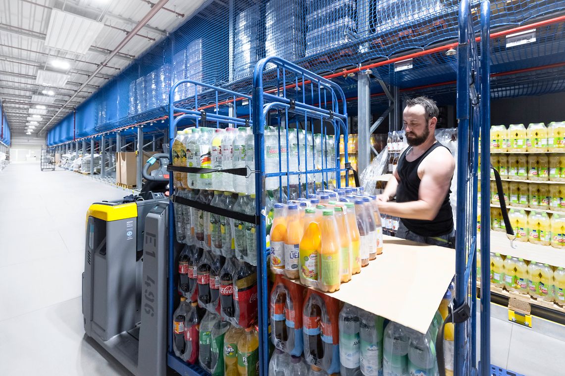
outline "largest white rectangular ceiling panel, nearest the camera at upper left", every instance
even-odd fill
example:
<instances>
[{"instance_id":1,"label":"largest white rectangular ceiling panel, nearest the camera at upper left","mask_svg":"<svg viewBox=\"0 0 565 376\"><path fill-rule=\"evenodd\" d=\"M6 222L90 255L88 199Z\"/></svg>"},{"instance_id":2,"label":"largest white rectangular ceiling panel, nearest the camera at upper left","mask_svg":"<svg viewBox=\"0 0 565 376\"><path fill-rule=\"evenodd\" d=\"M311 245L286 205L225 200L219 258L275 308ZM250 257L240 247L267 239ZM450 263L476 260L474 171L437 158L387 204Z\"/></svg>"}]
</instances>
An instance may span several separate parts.
<instances>
[{"instance_id":1,"label":"largest white rectangular ceiling panel, nearest the camera at upper left","mask_svg":"<svg viewBox=\"0 0 565 376\"><path fill-rule=\"evenodd\" d=\"M45 46L84 55L103 27L102 22L53 9Z\"/></svg>"}]
</instances>

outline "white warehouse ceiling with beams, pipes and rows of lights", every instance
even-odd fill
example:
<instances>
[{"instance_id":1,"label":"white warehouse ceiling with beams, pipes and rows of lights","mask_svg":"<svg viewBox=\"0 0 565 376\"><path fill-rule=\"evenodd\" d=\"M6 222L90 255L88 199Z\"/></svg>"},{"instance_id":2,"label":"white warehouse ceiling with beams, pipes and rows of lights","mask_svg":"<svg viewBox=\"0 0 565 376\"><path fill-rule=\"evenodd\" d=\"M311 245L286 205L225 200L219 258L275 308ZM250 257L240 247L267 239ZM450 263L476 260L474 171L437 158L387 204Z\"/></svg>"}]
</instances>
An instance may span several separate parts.
<instances>
[{"instance_id":1,"label":"white warehouse ceiling with beams, pipes and rows of lights","mask_svg":"<svg viewBox=\"0 0 565 376\"><path fill-rule=\"evenodd\" d=\"M12 136L44 135L211 1L0 0L0 101Z\"/></svg>"}]
</instances>

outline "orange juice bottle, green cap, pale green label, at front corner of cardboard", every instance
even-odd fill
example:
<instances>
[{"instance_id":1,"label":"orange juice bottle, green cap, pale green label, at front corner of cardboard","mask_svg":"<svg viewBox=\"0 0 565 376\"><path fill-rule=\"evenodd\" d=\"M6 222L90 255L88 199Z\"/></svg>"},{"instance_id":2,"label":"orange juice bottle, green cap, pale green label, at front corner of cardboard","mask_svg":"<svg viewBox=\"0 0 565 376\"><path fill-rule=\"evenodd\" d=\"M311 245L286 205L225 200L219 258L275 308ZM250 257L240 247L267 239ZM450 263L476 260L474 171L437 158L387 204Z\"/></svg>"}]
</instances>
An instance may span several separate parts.
<instances>
[{"instance_id":1,"label":"orange juice bottle, green cap, pale green label, at front corner of cardboard","mask_svg":"<svg viewBox=\"0 0 565 376\"><path fill-rule=\"evenodd\" d=\"M324 209L320 223L320 283L321 291L334 292L340 289L340 244L337 240L336 220L332 209Z\"/></svg>"}]
</instances>

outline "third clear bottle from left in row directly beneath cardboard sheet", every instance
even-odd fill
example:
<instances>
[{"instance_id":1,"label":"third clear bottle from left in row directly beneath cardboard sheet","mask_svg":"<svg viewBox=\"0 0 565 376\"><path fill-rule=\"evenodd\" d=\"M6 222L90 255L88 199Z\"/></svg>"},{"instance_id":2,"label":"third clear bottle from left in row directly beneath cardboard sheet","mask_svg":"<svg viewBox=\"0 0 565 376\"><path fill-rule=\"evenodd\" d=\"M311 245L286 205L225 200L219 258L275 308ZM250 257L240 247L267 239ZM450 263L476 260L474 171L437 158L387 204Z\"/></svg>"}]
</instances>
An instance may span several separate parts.
<instances>
[{"instance_id":1,"label":"third clear bottle from left in row directly beneath cardboard sheet","mask_svg":"<svg viewBox=\"0 0 565 376\"><path fill-rule=\"evenodd\" d=\"M383 376L408 375L409 329L389 322L384 331Z\"/></svg>"}]
</instances>

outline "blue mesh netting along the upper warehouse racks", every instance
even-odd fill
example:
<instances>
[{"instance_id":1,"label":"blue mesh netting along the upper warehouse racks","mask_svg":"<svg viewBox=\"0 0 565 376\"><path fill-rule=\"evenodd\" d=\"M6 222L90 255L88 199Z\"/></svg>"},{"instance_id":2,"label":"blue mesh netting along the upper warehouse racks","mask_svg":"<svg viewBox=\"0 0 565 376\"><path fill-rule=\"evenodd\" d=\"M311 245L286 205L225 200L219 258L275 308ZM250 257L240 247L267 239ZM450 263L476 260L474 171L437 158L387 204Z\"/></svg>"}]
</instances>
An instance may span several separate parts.
<instances>
[{"instance_id":1,"label":"blue mesh netting along the upper warehouse racks","mask_svg":"<svg viewBox=\"0 0 565 376\"><path fill-rule=\"evenodd\" d=\"M76 137L159 119L167 113L171 83L180 79L250 93L255 63L266 55L278 55L325 74L453 41L458 3L235 0L230 17L227 2L211 2L77 107ZM477 18L480 1L472 0L471 5ZM491 10L493 28L511 28L553 17L565 10L565 2L493 0ZM563 27L560 22L537 28L536 42L521 46L507 47L505 37L493 38L492 72L562 62ZM456 62L457 57L441 52L413 59L409 70L395 71L388 64L373 69L373 75L387 84L413 88L455 80ZM342 81L350 85L351 93L355 91L354 83ZM379 91L378 86L373 89ZM547 89L553 87L548 84ZM348 88L344 90L349 93ZM525 87L520 90L528 91ZM506 93L514 95L515 90ZM181 85L175 101L188 103L192 96L194 89ZM214 100L208 98L206 103ZM68 130L63 121L55 126L59 127ZM51 145L69 140L63 129L59 136L54 129L50 133Z\"/></svg>"}]
</instances>

